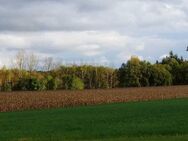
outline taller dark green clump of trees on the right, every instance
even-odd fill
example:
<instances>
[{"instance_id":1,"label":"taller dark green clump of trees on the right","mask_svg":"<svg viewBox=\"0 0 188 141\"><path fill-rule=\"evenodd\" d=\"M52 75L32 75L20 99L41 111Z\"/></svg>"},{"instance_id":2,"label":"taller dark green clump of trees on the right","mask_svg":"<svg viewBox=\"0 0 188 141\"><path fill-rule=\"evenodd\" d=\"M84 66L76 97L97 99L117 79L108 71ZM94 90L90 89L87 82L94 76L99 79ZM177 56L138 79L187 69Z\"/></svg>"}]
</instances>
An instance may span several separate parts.
<instances>
[{"instance_id":1,"label":"taller dark green clump of trees on the right","mask_svg":"<svg viewBox=\"0 0 188 141\"><path fill-rule=\"evenodd\" d=\"M188 84L188 61L173 52L161 62L151 64L132 57L118 71L121 87L144 87Z\"/></svg>"}]
</instances>

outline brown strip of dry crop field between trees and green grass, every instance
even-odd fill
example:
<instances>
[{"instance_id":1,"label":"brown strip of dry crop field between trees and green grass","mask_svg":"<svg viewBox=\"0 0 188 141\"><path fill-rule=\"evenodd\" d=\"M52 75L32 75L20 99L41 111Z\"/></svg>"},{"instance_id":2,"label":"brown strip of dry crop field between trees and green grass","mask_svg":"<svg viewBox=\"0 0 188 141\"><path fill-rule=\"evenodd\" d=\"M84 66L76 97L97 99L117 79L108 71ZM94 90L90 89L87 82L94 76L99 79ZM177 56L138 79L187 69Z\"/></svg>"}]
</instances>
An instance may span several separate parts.
<instances>
[{"instance_id":1,"label":"brown strip of dry crop field between trees and green grass","mask_svg":"<svg viewBox=\"0 0 188 141\"><path fill-rule=\"evenodd\" d=\"M188 86L0 93L0 112L188 98Z\"/></svg>"}]
</instances>

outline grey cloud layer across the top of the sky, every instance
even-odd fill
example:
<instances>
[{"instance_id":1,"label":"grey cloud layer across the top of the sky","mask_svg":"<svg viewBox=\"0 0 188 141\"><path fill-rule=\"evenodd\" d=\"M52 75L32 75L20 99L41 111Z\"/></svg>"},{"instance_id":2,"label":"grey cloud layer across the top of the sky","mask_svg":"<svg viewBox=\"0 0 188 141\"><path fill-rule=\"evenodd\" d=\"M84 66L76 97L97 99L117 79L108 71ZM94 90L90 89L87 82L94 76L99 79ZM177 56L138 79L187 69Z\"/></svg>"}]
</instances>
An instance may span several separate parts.
<instances>
[{"instance_id":1,"label":"grey cloud layer across the top of the sky","mask_svg":"<svg viewBox=\"0 0 188 141\"><path fill-rule=\"evenodd\" d=\"M180 0L3 0L0 30L183 29L188 21L187 8L183 8L186 3Z\"/></svg>"}]
</instances>

